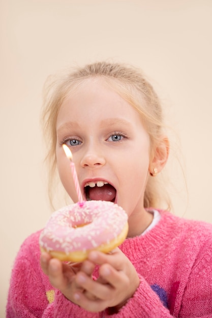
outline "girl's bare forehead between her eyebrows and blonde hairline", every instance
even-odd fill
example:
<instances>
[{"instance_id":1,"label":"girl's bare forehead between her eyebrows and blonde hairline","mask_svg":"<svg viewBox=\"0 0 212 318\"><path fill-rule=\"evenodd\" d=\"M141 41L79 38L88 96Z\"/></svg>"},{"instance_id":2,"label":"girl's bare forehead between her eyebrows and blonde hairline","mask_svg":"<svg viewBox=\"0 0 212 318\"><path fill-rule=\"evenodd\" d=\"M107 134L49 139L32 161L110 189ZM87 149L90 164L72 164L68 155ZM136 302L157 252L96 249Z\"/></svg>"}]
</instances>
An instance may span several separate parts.
<instances>
[{"instance_id":1,"label":"girl's bare forehead between her eyebrows and blonde hairline","mask_svg":"<svg viewBox=\"0 0 212 318\"><path fill-rule=\"evenodd\" d=\"M57 123L66 121L67 118L94 121L112 117L127 119L130 116L138 118L138 112L104 79L84 80L71 88L64 99L57 116Z\"/></svg>"}]
</instances>

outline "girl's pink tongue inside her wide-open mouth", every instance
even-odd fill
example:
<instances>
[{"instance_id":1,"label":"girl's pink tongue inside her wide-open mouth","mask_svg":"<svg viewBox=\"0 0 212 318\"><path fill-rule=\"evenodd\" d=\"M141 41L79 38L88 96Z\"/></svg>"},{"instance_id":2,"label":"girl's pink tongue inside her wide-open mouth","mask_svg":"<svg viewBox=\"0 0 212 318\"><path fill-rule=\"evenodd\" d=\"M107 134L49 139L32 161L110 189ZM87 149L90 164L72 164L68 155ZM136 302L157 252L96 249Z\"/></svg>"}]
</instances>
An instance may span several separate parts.
<instances>
[{"instance_id":1,"label":"girl's pink tongue inside her wide-open mouth","mask_svg":"<svg viewBox=\"0 0 212 318\"><path fill-rule=\"evenodd\" d=\"M115 195L116 190L110 184L105 184L101 187L96 185L93 188L89 188L90 200L113 201Z\"/></svg>"}]
</instances>

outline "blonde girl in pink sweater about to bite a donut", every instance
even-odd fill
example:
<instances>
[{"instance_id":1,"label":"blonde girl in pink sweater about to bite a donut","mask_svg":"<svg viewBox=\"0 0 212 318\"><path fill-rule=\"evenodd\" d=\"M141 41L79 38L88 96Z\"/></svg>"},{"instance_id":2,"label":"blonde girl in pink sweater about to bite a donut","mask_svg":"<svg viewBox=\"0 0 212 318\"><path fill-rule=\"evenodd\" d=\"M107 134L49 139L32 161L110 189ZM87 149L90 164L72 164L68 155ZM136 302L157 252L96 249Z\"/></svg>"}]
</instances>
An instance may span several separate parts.
<instances>
[{"instance_id":1,"label":"blonde girl in pink sweater about to bite a donut","mask_svg":"<svg viewBox=\"0 0 212 318\"><path fill-rule=\"evenodd\" d=\"M57 167L76 202L66 144L83 199L122 206L129 233L111 253L72 266L40 256L40 231L31 235L15 261L7 317L212 317L212 226L157 208L169 142L142 74L107 62L64 74L46 88L43 118L50 175Z\"/></svg>"}]
</instances>

